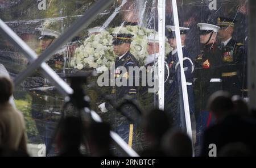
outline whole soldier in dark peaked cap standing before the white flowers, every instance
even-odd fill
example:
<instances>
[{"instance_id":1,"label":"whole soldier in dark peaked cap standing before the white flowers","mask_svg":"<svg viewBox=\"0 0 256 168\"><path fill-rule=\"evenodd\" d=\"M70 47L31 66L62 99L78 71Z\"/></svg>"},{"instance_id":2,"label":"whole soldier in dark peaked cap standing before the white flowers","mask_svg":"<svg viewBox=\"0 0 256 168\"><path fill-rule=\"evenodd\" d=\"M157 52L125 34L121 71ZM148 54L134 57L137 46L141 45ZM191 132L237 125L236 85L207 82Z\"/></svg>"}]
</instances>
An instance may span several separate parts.
<instances>
[{"instance_id":1,"label":"whole soldier in dark peaked cap standing before the white flowers","mask_svg":"<svg viewBox=\"0 0 256 168\"><path fill-rule=\"evenodd\" d=\"M131 99L137 99L137 87L134 85L129 86L128 82L129 80L134 81L135 77L135 74L133 74L133 79L130 79L132 75L129 74L129 67L133 68L138 66L138 61L135 59L133 54L130 53L130 44L133 35L126 33L113 33L112 36L114 53L117 55L117 58L115 58L115 79L119 78L121 80L125 80L127 83L127 86L117 86L117 83L115 83L115 86L112 89L114 102L122 102L126 95L130 96ZM123 68L126 69L125 73L122 72ZM126 117L123 116L119 111L113 110L113 108L108 103L100 104L99 108L102 112L114 111L114 116L112 117L114 121L110 122L114 124L115 132L117 132L118 135L121 136L123 140L125 140L131 146L133 140L134 125L130 123L130 121L128 121ZM129 105L122 107L122 109L125 109L125 111L129 112L130 114L133 113L133 107Z\"/></svg>"}]
</instances>

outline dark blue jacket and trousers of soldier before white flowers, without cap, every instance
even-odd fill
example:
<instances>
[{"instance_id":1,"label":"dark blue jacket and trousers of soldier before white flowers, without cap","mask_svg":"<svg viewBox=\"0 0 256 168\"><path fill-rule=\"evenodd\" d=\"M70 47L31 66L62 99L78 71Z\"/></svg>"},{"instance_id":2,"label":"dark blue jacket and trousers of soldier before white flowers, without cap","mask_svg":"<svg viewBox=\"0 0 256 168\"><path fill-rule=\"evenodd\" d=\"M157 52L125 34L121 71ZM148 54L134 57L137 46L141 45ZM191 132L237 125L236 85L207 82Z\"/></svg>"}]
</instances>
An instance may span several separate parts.
<instances>
[{"instance_id":1,"label":"dark blue jacket and trousers of soldier before white flowers, without cap","mask_svg":"<svg viewBox=\"0 0 256 168\"><path fill-rule=\"evenodd\" d=\"M118 68L120 66L123 66L126 68L125 74L123 74L122 70ZM125 82L127 82L127 86L118 87L115 85L112 88L112 98L115 100L115 102L122 102L125 96L130 96L131 99L137 99L137 87L128 86L129 85L128 80L130 76L129 67L134 67L134 66L138 66L138 61L135 59L133 54L130 53L130 51L127 52L121 59L119 59L119 57L115 59L115 74L114 74L115 78L121 77L121 75L123 74L121 80L125 80ZM133 75L133 77L135 77L135 74ZM125 140L128 143L130 127L135 127L135 125L130 125L131 124L130 121L127 120L127 118L123 116L119 111L114 110L108 103L106 103L106 108L111 113L109 117L110 117L110 122L112 124L112 127L114 128L114 131L119 136L121 136L123 140ZM122 108L124 108L130 114L134 112L132 106L127 105ZM133 128L133 132L134 132L134 129L135 128Z\"/></svg>"}]
</instances>

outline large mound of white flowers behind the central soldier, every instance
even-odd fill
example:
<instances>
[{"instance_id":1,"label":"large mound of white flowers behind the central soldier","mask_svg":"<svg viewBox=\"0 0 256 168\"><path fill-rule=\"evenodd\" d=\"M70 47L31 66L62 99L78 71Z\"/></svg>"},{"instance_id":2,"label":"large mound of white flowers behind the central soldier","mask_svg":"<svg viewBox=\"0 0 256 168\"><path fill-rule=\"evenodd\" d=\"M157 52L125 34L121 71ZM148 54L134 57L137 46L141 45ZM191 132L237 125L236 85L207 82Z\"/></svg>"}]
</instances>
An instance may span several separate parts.
<instances>
[{"instance_id":1,"label":"large mound of white flowers behind the central soldier","mask_svg":"<svg viewBox=\"0 0 256 168\"><path fill-rule=\"evenodd\" d=\"M110 33L130 33L133 36L131 43L131 53L143 64L147 56L147 36L153 30L139 26L126 26L109 28L109 31L102 31L97 35L91 35L84 40L84 45L76 48L69 65L73 68L110 68L110 62L114 62L115 54L112 46L112 35ZM170 53L171 48L166 39L166 54Z\"/></svg>"}]
</instances>

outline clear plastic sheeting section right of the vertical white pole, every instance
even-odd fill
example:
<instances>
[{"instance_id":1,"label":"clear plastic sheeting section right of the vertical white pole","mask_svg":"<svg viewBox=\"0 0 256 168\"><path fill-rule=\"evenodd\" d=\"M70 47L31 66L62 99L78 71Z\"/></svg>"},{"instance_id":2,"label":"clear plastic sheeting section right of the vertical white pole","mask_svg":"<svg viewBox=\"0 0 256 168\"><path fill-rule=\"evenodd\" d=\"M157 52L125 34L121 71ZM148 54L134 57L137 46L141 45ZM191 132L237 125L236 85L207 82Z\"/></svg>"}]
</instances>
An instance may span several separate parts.
<instances>
[{"instance_id":1,"label":"clear plastic sheeting section right of the vertical white pole","mask_svg":"<svg viewBox=\"0 0 256 168\"><path fill-rule=\"evenodd\" d=\"M167 20L174 26L171 1ZM174 115L177 129L186 131L185 104L189 106L195 155L200 154L201 135L214 124L207 109L209 96L218 90L247 98L246 1L177 1L183 50L183 71L187 82L188 104L184 102L179 56L174 49L167 56L170 82L166 85L166 110ZM168 21L167 21L168 23ZM244 30L241 30L242 27ZM176 48L174 27L167 27L170 44ZM174 99L179 98L179 100Z\"/></svg>"}]
</instances>

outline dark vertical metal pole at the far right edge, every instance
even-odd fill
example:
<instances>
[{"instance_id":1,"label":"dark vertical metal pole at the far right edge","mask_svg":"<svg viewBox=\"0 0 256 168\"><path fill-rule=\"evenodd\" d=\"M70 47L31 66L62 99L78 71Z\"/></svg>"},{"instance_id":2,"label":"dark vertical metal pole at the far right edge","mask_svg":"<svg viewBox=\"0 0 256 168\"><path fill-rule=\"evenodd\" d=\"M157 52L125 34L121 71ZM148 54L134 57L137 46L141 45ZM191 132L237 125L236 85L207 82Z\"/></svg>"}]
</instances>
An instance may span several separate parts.
<instances>
[{"instance_id":1,"label":"dark vertical metal pole at the far right edge","mask_svg":"<svg viewBox=\"0 0 256 168\"><path fill-rule=\"evenodd\" d=\"M249 88L249 107L256 111L256 1L249 0L249 47L248 47L248 88Z\"/></svg>"}]
</instances>

